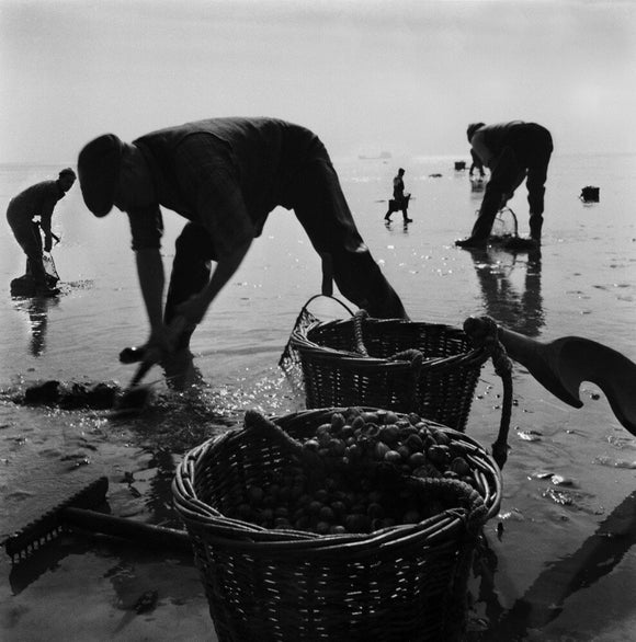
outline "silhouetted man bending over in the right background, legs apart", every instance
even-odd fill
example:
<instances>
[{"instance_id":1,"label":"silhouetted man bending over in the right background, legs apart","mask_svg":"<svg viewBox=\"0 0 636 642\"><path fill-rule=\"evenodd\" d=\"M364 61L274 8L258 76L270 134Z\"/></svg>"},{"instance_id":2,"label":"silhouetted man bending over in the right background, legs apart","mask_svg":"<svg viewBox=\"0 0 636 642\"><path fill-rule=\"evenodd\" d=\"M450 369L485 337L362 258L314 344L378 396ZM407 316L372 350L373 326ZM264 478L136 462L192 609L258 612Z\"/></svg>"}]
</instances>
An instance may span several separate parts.
<instances>
[{"instance_id":1,"label":"silhouetted man bending over in the right background, legs apart","mask_svg":"<svg viewBox=\"0 0 636 642\"><path fill-rule=\"evenodd\" d=\"M490 180L470 236L455 241L455 244L461 248L484 247L497 213L512 198L524 179L530 205L530 236L540 243L544 185L554 149L550 133L535 123L512 121L498 125L474 123L468 126L466 135L473 149L490 169Z\"/></svg>"}]
</instances>

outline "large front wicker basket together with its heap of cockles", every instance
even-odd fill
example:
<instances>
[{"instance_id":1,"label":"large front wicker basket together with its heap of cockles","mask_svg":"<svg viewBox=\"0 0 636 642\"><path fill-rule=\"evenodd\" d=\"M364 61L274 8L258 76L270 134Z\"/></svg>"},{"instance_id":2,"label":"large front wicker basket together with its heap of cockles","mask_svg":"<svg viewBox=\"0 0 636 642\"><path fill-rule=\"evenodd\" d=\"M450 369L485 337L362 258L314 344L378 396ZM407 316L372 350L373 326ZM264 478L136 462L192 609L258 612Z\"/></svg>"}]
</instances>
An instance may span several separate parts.
<instances>
[{"instance_id":1,"label":"large front wicker basket together with its heap of cockles","mask_svg":"<svg viewBox=\"0 0 636 642\"><path fill-rule=\"evenodd\" d=\"M186 455L173 496L222 642L453 641L501 479L414 413L248 411Z\"/></svg>"}]
</instances>

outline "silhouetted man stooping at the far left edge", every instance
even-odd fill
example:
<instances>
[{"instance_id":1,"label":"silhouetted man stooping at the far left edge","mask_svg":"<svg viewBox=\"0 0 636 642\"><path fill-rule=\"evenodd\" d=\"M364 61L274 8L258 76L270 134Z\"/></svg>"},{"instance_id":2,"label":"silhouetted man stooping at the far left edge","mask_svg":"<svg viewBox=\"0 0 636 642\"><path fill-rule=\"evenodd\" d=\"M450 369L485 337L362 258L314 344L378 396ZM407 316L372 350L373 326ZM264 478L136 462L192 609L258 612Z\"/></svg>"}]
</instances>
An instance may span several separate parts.
<instances>
[{"instance_id":1,"label":"silhouetted man stooping at the far left edge","mask_svg":"<svg viewBox=\"0 0 636 642\"><path fill-rule=\"evenodd\" d=\"M44 251L50 252L55 236L50 231L53 210L57 202L72 187L75 180L75 172L67 168L59 172L57 180L36 183L9 202L7 220L15 240L26 254L27 271L31 271L35 282L36 296L58 294L58 290L49 287L46 282L39 230L44 232Z\"/></svg>"}]
</instances>

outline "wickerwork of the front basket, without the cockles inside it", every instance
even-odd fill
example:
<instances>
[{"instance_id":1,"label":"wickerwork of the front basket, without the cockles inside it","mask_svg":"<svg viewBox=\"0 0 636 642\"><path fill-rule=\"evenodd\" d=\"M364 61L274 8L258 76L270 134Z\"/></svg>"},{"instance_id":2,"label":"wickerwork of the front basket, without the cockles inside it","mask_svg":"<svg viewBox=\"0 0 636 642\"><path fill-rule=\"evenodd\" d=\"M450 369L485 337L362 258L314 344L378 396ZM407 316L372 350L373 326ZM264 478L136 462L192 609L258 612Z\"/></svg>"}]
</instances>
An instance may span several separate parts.
<instances>
[{"instance_id":1,"label":"wickerwork of the front basket, without the cockles inside it","mask_svg":"<svg viewBox=\"0 0 636 642\"><path fill-rule=\"evenodd\" d=\"M336 410L304 411L274 422L287 435L306 439ZM368 535L319 536L228 518L251 485L288 470L288 452L250 429L192 450L177 471L173 495L218 639L458 640L473 550L480 527L499 509L501 480L481 446L439 428L464 450L479 492L468 494L469 486L454 480L421 480L427 497L444 495L447 502L452 495L454 507Z\"/></svg>"}]
</instances>

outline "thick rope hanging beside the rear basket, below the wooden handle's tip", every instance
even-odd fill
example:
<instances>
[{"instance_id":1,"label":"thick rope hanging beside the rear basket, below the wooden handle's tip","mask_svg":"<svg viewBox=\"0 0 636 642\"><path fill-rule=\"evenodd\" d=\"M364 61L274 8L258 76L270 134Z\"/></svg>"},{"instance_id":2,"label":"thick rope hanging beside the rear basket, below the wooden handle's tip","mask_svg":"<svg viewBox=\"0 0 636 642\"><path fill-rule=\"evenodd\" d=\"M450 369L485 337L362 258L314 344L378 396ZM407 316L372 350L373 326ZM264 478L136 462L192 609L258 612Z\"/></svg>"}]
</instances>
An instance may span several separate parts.
<instances>
[{"instance_id":1,"label":"thick rope hanging beside the rear basket, below the wooden handle's tip","mask_svg":"<svg viewBox=\"0 0 636 642\"><path fill-rule=\"evenodd\" d=\"M492 444L492 458L503 469L508 459L508 432L510 429L510 417L512 415L512 362L499 341L499 326L491 317L479 317L479 323L469 317L464 321L464 332L470 337L475 347L484 347L488 351L495 372L501 377L503 385L503 402L501 405L501 422L499 434Z\"/></svg>"}]
</instances>

